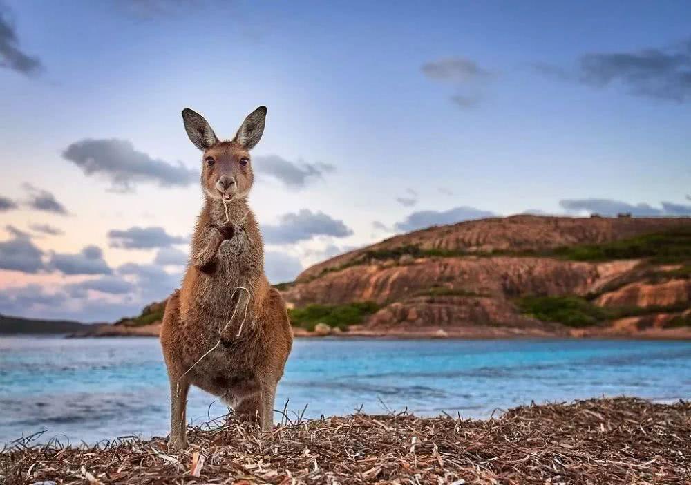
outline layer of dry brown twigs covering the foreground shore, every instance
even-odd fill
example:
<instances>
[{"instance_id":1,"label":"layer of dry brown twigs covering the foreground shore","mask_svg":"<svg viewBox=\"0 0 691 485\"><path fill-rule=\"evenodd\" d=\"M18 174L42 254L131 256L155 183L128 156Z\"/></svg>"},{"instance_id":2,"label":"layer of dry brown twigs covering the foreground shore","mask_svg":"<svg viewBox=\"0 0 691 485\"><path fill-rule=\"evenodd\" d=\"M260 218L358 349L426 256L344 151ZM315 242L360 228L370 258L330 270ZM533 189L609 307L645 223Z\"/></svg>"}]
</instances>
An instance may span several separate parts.
<instances>
[{"instance_id":1,"label":"layer of dry brown twigs covering the foreground shore","mask_svg":"<svg viewBox=\"0 0 691 485\"><path fill-rule=\"evenodd\" d=\"M691 403L593 399L474 421L405 413L287 424L257 435L232 420L190 447L124 439L93 448L16 442L0 483L689 484Z\"/></svg>"}]
</instances>

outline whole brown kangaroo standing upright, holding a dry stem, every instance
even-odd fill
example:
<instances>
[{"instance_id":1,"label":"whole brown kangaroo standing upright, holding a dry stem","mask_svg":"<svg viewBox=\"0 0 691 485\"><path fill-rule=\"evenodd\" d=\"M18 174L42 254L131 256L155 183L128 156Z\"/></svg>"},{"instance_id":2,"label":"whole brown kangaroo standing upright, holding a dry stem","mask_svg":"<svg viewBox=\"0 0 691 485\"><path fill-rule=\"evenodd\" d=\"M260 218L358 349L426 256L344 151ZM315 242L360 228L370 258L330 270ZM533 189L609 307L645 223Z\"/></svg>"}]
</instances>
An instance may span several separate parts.
<instances>
[{"instance_id":1,"label":"whole brown kangaroo standing upright, holding a dry stem","mask_svg":"<svg viewBox=\"0 0 691 485\"><path fill-rule=\"evenodd\" d=\"M204 207L182 287L168 299L161 345L171 389L169 446L187 447L191 384L219 396L261 430L273 426L276 386L292 348L285 302L264 273L264 247L247 195L249 151L264 131L266 107L250 113L230 141L187 108L184 128L202 156Z\"/></svg>"}]
</instances>

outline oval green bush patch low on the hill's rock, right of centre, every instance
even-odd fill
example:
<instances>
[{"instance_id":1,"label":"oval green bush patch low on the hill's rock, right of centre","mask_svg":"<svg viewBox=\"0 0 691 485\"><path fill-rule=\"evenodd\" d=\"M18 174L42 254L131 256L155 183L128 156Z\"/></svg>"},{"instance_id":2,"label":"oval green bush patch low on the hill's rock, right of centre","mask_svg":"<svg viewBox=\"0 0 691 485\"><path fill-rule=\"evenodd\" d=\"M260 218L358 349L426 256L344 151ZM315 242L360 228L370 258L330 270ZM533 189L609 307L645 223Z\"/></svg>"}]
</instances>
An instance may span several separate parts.
<instances>
[{"instance_id":1,"label":"oval green bush patch low on the hill's rock, right of centre","mask_svg":"<svg viewBox=\"0 0 691 485\"><path fill-rule=\"evenodd\" d=\"M538 320L569 327L588 327L609 317L605 310L578 296L524 296L517 304L521 312Z\"/></svg>"}]
</instances>

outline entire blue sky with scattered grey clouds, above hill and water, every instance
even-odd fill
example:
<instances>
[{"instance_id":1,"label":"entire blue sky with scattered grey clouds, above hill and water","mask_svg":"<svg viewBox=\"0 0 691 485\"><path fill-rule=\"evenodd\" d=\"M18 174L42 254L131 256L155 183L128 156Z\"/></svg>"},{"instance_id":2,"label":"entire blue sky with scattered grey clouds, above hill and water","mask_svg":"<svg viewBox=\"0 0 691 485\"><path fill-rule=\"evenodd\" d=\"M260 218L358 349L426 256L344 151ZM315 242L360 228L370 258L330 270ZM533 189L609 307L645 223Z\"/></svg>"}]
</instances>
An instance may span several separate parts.
<instances>
[{"instance_id":1,"label":"entire blue sky with scattered grey clouds, above hill and water","mask_svg":"<svg viewBox=\"0 0 691 485\"><path fill-rule=\"evenodd\" d=\"M0 0L0 313L113 321L180 284L180 111L268 107L272 283L435 224L691 215L688 1Z\"/></svg>"}]
</instances>

